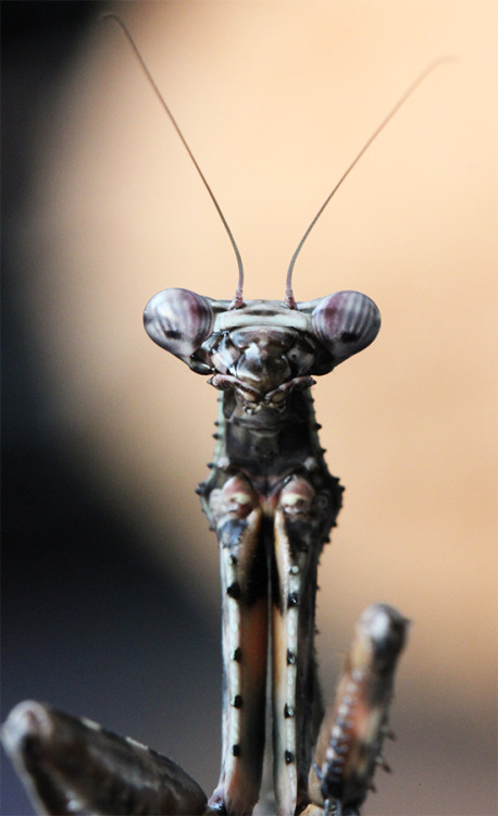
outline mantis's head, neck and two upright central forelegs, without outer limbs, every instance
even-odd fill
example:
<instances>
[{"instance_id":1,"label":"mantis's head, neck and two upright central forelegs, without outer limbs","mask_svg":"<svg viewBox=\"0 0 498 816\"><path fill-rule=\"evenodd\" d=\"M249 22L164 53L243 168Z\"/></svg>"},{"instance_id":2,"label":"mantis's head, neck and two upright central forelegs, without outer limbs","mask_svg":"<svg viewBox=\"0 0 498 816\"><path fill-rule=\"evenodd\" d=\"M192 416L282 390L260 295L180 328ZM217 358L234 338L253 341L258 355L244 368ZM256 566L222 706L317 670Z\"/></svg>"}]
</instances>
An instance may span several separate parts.
<instances>
[{"instance_id":1,"label":"mantis's head, neck and two upright central forelegs, without outer limbs","mask_svg":"<svg viewBox=\"0 0 498 816\"><path fill-rule=\"evenodd\" d=\"M250 813L264 755L270 636L275 795L292 814L308 800L322 719L314 663L316 570L343 489L318 436L310 386L376 336L375 304L358 292L234 308L186 289L145 311L155 343L222 391L217 445L200 495L220 542L224 726L211 805Z\"/></svg>"}]
</instances>

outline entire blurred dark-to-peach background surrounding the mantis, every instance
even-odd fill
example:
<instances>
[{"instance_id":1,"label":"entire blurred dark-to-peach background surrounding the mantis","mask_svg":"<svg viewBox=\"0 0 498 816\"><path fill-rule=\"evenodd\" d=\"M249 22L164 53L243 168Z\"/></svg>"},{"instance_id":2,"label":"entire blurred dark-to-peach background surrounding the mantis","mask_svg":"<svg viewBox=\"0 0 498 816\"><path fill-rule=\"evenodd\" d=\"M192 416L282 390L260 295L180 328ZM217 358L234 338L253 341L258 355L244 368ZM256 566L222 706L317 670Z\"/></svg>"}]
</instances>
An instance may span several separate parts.
<instances>
[{"instance_id":1,"label":"entire blurred dark-to-peach background surrounding the mantis","mask_svg":"<svg viewBox=\"0 0 498 816\"><path fill-rule=\"evenodd\" d=\"M3 2L2 717L35 697L171 756L220 757L217 552L196 483L215 393L147 338L151 295L229 299L232 248L122 34L130 27L231 224L246 297L414 77L296 265L383 329L315 386L346 485L322 559L325 695L361 610L413 620L398 740L365 814L496 800L495 3ZM186 728L188 724L188 729ZM2 762L4 816L30 813ZM379 776L379 775L378 775Z\"/></svg>"}]
</instances>

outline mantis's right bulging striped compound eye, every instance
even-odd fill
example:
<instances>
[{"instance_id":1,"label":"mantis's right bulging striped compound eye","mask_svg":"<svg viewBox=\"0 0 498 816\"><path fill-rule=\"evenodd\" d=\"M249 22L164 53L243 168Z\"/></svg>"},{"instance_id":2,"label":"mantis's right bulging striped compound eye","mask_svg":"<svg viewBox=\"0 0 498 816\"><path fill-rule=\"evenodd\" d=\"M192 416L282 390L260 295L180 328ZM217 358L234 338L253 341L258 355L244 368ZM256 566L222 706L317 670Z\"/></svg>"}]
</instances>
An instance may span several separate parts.
<instances>
[{"instance_id":1,"label":"mantis's right bulging striped compound eye","mask_svg":"<svg viewBox=\"0 0 498 816\"><path fill-rule=\"evenodd\" d=\"M311 323L334 366L338 366L375 339L381 313L374 301L360 292L336 292L314 308Z\"/></svg>"}]
</instances>

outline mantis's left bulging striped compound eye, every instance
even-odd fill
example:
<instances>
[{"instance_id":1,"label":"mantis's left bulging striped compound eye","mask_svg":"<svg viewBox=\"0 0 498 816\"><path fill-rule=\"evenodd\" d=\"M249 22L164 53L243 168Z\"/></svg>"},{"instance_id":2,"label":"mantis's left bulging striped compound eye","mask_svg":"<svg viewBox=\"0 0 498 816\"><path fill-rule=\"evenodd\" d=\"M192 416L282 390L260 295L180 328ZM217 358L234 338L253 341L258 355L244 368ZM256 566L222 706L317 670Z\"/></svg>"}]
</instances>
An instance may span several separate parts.
<instances>
[{"instance_id":1,"label":"mantis's left bulging striped compound eye","mask_svg":"<svg viewBox=\"0 0 498 816\"><path fill-rule=\"evenodd\" d=\"M164 289L149 300L144 311L149 337L187 364L211 334L213 322L208 298L188 289Z\"/></svg>"}]
</instances>

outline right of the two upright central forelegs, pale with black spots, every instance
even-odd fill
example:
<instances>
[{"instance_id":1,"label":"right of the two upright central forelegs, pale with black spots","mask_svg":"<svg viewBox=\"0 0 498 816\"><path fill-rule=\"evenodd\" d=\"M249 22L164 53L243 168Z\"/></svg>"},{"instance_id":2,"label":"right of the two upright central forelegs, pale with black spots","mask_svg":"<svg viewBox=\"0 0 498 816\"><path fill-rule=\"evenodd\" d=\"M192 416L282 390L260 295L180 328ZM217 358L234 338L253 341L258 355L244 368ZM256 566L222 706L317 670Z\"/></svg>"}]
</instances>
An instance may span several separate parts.
<instances>
[{"instance_id":1,"label":"right of the two upright central forelegs, pale with black spots","mask_svg":"<svg viewBox=\"0 0 498 816\"><path fill-rule=\"evenodd\" d=\"M332 485L332 486L331 486ZM340 507L329 478L316 490L306 475L285 480L275 507L272 568L273 743L278 812L308 801L311 750L323 714L314 657L316 572Z\"/></svg>"}]
</instances>

